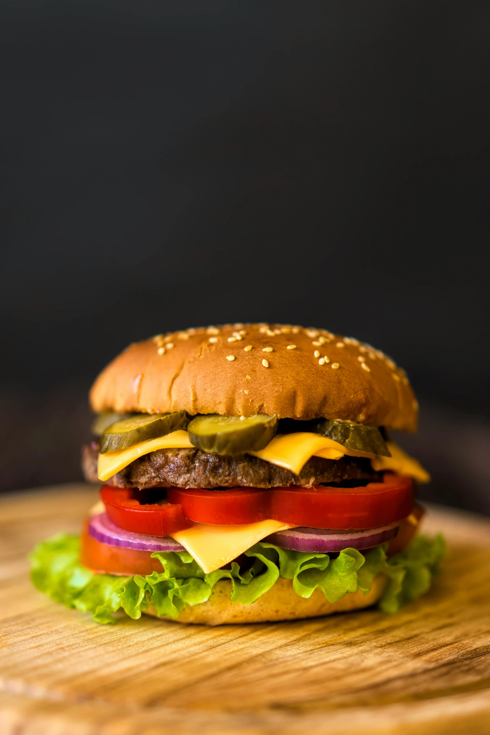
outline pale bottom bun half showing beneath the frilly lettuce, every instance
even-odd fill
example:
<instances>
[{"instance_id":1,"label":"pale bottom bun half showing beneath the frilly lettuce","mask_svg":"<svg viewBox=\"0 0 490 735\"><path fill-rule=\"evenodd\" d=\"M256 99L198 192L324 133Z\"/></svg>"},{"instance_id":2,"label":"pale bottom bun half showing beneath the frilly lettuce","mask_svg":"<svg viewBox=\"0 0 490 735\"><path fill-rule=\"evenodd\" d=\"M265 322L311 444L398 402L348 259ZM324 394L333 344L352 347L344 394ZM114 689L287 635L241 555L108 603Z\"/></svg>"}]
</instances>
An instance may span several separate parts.
<instances>
[{"instance_id":1,"label":"pale bottom bun half showing beneath the frilly lettuce","mask_svg":"<svg viewBox=\"0 0 490 735\"><path fill-rule=\"evenodd\" d=\"M195 606L187 605L173 618L162 615L165 620L176 623L201 623L201 625L223 625L223 623L269 623L275 620L298 620L302 617L330 615L333 612L349 612L369 607L381 598L386 577L378 574L371 591L364 595L360 589L350 592L341 600L328 602L320 589L315 589L310 598L302 598L292 588L292 580L279 577L274 586L251 605L231 602L231 580L222 579L212 588L211 597ZM156 610L149 606L147 615L156 616Z\"/></svg>"}]
</instances>

